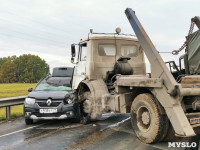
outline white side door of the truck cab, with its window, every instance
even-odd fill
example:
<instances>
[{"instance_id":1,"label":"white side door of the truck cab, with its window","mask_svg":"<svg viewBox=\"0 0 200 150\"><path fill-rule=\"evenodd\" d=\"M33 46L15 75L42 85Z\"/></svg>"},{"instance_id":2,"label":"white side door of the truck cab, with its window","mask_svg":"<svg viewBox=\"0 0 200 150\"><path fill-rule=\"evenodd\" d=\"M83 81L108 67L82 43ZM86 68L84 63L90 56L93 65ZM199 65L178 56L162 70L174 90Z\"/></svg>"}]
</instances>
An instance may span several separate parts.
<instances>
[{"instance_id":1,"label":"white side door of the truck cab, with its window","mask_svg":"<svg viewBox=\"0 0 200 150\"><path fill-rule=\"evenodd\" d=\"M87 59L87 43L79 45L78 62L76 63L72 89L77 89L79 83L85 79L86 59Z\"/></svg>"}]
</instances>

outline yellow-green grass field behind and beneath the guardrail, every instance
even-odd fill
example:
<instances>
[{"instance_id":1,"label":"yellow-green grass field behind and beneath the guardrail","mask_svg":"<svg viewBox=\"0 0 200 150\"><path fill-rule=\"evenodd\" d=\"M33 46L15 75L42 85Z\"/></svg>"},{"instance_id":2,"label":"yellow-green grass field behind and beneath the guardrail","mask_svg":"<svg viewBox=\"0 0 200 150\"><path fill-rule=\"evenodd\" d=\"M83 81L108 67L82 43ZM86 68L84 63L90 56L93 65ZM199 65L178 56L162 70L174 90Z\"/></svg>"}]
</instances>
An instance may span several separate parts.
<instances>
[{"instance_id":1,"label":"yellow-green grass field behind and beneath the guardrail","mask_svg":"<svg viewBox=\"0 0 200 150\"><path fill-rule=\"evenodd\" d=\"M0 84L0 98L16 97L28 95L28 88L34 88L36 83L11 83ZM24 115L24 106L11 106L11 118L21 117ZM5 120L5 108L0 108L0 121Z\"/></svg>"}]
</instances>

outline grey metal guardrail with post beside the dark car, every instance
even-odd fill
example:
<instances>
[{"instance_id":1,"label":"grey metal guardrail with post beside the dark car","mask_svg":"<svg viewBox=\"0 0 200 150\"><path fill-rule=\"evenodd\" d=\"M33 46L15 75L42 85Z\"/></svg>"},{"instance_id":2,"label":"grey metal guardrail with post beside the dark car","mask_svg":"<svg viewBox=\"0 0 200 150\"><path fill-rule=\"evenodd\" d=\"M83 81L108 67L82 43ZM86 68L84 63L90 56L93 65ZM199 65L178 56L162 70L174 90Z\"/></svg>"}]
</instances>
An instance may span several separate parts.
<instances>
[{"instance_id":1,"label":"grey metal guardrail with post beside the dark car","mask_svg":"<svg viewBox=\"0 0 200 150\"><path fill-rule=\"evenodd\" d=\"M6 119L10 120L10 106L22 105L27 96L9 97L0 99L0 108L6 107Z\"/></svg>"}]
</instances>

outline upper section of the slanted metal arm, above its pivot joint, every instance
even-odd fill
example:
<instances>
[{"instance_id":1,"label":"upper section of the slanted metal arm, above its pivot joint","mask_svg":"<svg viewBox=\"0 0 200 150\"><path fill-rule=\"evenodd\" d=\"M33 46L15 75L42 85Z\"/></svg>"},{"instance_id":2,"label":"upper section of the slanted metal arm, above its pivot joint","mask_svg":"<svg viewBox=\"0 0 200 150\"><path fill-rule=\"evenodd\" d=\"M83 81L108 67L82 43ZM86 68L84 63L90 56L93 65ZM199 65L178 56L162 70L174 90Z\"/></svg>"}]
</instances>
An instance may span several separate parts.
<instances>
[{"instance_id":1,"label":"upper section of the slanted metal arm, above its pivot joint","mask_svg":"<svg viewBox=\"0 0 200 150\"><path fill-rule=\"evenodd\" d=\"M125 14L142 46L151 66L151 74L153 78L161 78L164 86L167 88L167 93L175 96L176 85L172 74L169 72L167 66L165 65L163 59L157 52L155 46L151 42L141 23L135 15L135 12L131 8L125 10Z\"/></svg>"}]
</instances>

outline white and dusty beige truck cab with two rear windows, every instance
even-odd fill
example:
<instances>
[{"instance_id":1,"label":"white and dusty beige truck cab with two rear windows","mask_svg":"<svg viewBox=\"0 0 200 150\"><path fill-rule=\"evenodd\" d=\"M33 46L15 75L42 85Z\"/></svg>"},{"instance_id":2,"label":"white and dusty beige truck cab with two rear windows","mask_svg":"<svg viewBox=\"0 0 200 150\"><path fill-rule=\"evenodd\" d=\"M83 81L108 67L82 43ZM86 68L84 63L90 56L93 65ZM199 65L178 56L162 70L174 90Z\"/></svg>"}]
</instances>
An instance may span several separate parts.
<instances>
[{"instance_id":1,"label":"white and dusty beige truck cab with two rear windows","mask_svg":"<svg viewBox=\"0 0 200 150\"><path fill-rule=\"evenodd\" d=\"M145 75L143 50L136 38L128 36L94 36L78 44L78 57L74 70L72 89L82 80L108 81L114 74L114 66L120 57L129 57L128 63L134 75Z\"/></svg>"}]
</instances>

